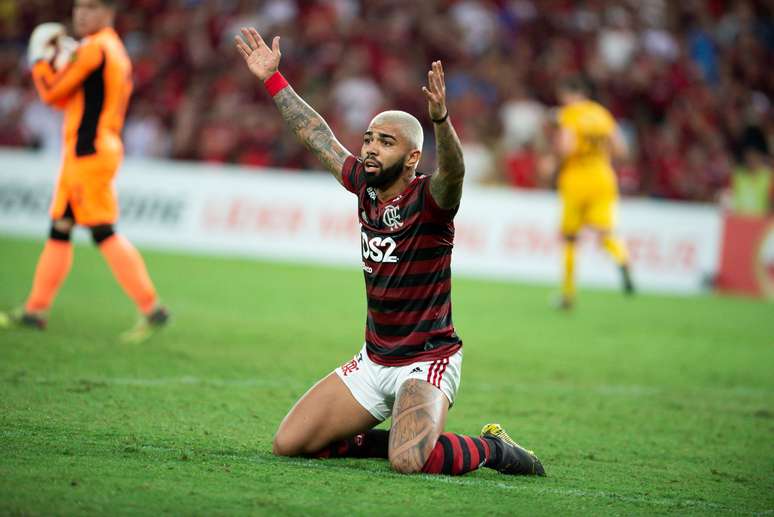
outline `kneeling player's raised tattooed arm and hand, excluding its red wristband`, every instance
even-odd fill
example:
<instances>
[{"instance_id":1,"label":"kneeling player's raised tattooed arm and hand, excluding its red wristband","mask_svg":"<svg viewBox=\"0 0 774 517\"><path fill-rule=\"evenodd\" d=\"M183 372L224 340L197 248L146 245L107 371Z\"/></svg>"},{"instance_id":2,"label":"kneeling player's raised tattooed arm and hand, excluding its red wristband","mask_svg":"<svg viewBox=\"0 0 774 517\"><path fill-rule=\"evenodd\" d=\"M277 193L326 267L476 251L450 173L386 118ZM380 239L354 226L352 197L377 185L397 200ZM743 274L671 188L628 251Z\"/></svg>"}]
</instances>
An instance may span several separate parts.
<instances>
[{"instance_id":1,"label":"kneeling player's raised tattooed arm and hand, excluding its red wristband","mask_svg":"<svg viewBox=\"0 0 774 517\"><path fill-rule=\"evenodd\" d=\"M272 78L277 73L281 57L279 36L274 37L271 48L252 27L242 29L242 36L244 40L236 37L236 46L247 67L261 81ZM274 95L274 103L298 139L341 183L341 168L350 153L336 140L325 120L290 86L285 86Z\"/></svg>"}]
</instances>

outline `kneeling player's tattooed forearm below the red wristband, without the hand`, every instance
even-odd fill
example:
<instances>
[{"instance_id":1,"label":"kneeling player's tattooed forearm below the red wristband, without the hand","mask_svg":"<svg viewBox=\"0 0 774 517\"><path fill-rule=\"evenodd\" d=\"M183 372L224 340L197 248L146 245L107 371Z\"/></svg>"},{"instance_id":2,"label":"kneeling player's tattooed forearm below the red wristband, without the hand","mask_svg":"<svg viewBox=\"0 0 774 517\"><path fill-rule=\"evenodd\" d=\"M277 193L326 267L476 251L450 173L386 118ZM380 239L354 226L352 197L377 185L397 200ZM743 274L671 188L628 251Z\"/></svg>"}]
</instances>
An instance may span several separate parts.
<instances>
[{"instance_id":1,"label":"kneeling player's tattooed forearm below the red wristband, without the hand","mask_svg":"<svg viewBox=\"0 0 774 517\"><path fill-rule=\"evenodd\" d=\"M349 152L336 140L325 120L289 86L274 96L274 102L299 140L341 183L341 167Z\"/></svg>"}]
</instances>

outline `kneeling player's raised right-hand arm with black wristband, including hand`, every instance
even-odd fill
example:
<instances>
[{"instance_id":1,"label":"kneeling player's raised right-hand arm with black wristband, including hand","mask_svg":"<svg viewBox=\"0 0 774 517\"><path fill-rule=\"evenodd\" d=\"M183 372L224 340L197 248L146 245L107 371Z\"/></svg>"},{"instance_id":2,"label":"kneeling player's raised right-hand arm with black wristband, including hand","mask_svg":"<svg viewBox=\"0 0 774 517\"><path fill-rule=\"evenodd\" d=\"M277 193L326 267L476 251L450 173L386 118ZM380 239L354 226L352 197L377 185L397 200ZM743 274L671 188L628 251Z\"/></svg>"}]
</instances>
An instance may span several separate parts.
<instances>
[{"instance_id":1,"label":"kneeling player's raised right-hand arm with black wristband, including hand","mask_svg":"<svg viewBox=\"0 0 774 517\"><path fill-rule=\"evenodd\" d=\"M434 61L427 72L427 84L422 91L427 97L427 109L435 129L435 150L438 156L438 172L430 179L430 194L444 209L455 208L462 199L462 179L465 164L462 161L460 139L454 131L446 109L446 84L443 66Z\"/></svg>"}]
</instances>

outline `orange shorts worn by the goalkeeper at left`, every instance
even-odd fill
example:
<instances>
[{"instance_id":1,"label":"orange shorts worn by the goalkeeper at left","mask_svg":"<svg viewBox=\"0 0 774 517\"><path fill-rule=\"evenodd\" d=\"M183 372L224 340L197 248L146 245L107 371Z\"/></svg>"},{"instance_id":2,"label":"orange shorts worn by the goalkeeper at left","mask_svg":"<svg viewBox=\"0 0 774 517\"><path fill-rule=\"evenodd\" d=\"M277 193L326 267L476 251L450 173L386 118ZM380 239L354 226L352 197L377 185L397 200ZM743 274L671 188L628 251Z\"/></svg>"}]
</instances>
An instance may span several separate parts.
<instances>
[{"instance_id":1,"label":"orange shorts worn by the goalkeeper at left","mask_svg":"<svg viewBox=\"0 0 774 517\"><path fill-rule=\"evenodd\" d=\"M82 226L115 223L118 197L113 179L121 158L122 153L103 152L82 157L66 154L51 202L51 218L62 218L70 205L75 222Z\"/></svg>"}]
</instances>

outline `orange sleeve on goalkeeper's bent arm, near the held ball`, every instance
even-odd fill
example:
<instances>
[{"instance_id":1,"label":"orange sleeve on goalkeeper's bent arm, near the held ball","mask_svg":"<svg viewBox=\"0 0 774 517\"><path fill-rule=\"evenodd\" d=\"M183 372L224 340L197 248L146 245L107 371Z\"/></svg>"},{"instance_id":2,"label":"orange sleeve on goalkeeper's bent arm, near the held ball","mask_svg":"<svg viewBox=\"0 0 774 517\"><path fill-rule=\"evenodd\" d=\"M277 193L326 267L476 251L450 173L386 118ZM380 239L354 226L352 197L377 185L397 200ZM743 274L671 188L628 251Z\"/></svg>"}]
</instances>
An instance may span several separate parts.
<instances>
[{"instance_id":1,"label":"orange sleeve on goalkeeper's bent arm, near the held ball","mask_svg":"<svg viewBox=\"0 0 774 517\"><path fill-rule=\"evenodd\" d=\"M103 60L102 47L96 42L89 42L79 47L73 61L59 72L55 72L48 62L38 61L32 68L32 79L40 99L46 104L61 105Z\"/></svg>"}]
</instances>

